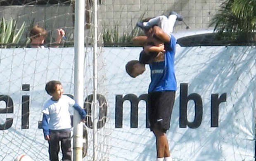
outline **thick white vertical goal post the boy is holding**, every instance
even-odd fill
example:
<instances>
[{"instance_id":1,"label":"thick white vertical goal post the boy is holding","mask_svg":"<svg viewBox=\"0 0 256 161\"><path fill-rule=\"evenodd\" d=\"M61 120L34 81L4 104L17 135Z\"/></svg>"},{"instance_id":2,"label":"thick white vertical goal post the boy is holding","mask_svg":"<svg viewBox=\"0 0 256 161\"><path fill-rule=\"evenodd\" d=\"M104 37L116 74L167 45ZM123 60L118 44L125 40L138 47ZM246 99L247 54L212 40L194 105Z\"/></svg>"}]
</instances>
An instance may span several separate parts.
<instances>
[{"instance_id":1,"label":"thick white vertical goal post the boy is holding","mask_svg":"<svg viewBox=\"0 0 256 161\"><path fill-rule=\"evenodd\" d=\"M75 0L75 35L74 35L74 98L78 104L83 107L83 89L84 89L84 42L85 42L85 2L84 0ZM73 160L83 160L83 122L79 117L78 111L74 111L73 117Z\"/></svg>"}]
</instances>

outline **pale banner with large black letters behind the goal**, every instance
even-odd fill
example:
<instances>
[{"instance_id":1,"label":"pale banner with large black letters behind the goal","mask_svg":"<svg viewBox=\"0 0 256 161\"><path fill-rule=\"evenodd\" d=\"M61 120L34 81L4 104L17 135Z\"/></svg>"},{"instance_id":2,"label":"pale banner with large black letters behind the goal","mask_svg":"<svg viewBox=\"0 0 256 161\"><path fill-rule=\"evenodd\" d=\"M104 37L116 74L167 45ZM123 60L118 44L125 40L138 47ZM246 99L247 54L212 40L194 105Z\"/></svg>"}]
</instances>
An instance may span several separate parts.
<instances>
[{"instance_id":1,"label":"pale banner with large black letters behind the goal","mask_svg":"<svg viewBox=\"0 0 256 161\"><path fill-rule=\"evenodd\" d=\"M156 157L143 101L149 68L137 78L125 71L125 64L138 59L141 49L104 47L99 54L99 93L107 99L108 121L98 137L106 142L108 154L98 160L153 161ZM24 153L35 161L48 159L48 144L38 128L41 108L50 98L45 83L60 80L64 93L73 95L73 57L73 48L0 50L0 160L11 161ZM85 99L92 94L92 67L90 49L85 54ZM175 70L178 90L167 132L173 160L253 161L255 48L177 45ZM90 131L85 160L92 156Z\"/></svg>"}]
</instances>

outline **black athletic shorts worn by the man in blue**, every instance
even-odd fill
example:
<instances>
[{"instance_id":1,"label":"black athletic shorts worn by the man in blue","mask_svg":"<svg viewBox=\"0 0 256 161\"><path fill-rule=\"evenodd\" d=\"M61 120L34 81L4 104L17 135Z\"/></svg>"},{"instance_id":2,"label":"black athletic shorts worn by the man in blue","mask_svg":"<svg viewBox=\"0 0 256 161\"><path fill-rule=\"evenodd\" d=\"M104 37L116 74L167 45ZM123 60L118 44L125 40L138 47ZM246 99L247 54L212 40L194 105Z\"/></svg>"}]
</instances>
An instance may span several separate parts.
<instances>
[{"instance_id":1,"label":"black athletic shorts worn by the man in blue","mask_svg":"<svg viewBox=\"0 0 256 161\"><path fill-rule=\"evenodd\" d=\"M148 95L148 116L150 130L153 128L164 133L170 128L171 113L175 99L175 91L150 92Z\"/></svg>"}]
</instances>

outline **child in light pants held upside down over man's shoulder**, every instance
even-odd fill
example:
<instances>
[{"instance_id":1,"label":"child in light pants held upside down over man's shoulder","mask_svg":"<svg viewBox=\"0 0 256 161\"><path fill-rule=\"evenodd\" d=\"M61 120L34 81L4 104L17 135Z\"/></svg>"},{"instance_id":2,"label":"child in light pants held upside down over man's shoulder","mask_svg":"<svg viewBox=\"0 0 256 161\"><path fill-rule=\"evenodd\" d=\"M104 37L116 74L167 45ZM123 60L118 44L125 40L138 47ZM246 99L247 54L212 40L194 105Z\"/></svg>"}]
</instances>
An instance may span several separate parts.
<instances>
[{"instance_id":1,"label":"child in light pants held upside down over man's shoulder","mask_svg":"<svg viewBox=\"0 0 256 161\"><path fill-rule=\"evenodd\" d=\"M162 31L171 36L176 20L183 21L183 17L176 12L171 12L168 18L165 15L161 15L137 22L137 26L145 31L146 36L135 36L133 38L133 43L143 46L144 49L140 52L139 60L131 60L126 64L126 72L131 77L135 78L142 74L145 71L145 64L157 62L164 57L164 43L157 41L158 38L155 33L150 31L152 26L159 26Z\"/></svg>"}]
</instances>

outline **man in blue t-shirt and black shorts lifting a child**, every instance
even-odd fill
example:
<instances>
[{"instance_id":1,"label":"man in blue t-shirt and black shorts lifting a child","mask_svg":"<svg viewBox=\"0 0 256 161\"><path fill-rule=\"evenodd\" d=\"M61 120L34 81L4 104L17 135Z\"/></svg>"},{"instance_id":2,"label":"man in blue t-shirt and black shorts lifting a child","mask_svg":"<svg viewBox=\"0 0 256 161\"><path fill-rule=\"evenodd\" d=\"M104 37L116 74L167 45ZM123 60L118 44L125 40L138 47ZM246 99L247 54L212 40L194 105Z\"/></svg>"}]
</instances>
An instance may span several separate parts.
<instances>
[{"instance_id":1,"label":"man in blue t-shirt and black shorts lifting a child","mask_svg":"<svg viewBox=\"0 0 256 161\"><path fill-rule=\"evenodd\" d=\"M166 131L170 128L171 113L175 99L177 82L174 69L176 39L164 33L159 26L149 29L154 45L164 43L165 52L160 52L158 60L150 63L151 83L149 84L149 122L156 137L157 161L172 161ZM147 52L147 51L145 51Z\"/></svg>"}]
</instances>

